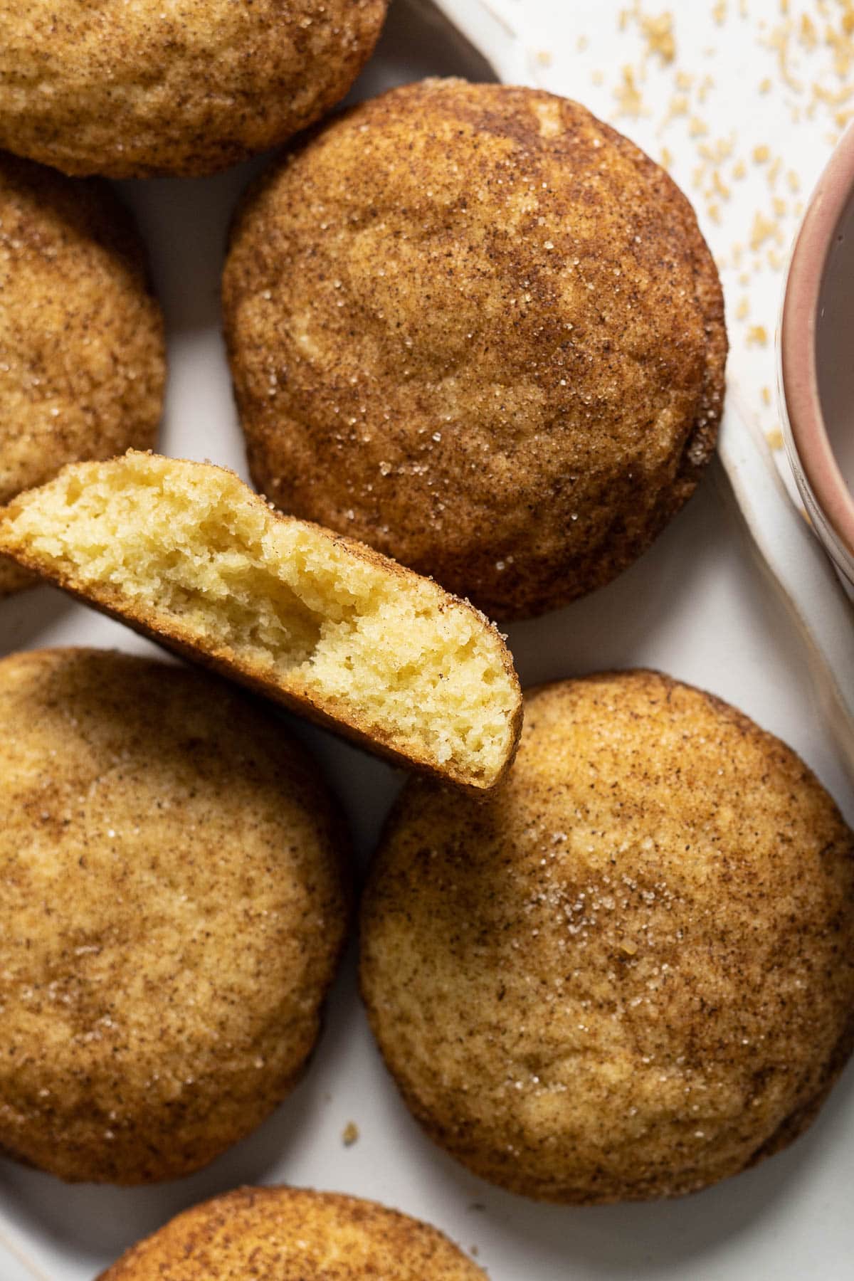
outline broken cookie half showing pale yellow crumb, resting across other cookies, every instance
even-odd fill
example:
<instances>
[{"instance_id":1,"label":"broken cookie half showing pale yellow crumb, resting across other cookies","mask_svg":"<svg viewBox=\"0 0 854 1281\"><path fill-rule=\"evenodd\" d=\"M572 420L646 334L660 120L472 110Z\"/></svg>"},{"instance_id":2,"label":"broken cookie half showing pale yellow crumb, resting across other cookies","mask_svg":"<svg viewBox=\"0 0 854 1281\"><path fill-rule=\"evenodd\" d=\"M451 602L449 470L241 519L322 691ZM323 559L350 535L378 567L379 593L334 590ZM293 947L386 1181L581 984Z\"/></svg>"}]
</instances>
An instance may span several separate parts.
<instances>
[{"instance_id":1,"label":"broken cookie half showing pale yellow crumb, resting across other cookies","mask_svg":"<svg viewBox=\"0 0 854 1281\"><path fill-rule=\"evenodd\" d=\"M478 792L512 760L522 699L488 619L224 468L69 466L0 511L3 552L398 763Z\"/></svg>"}]
</instances>

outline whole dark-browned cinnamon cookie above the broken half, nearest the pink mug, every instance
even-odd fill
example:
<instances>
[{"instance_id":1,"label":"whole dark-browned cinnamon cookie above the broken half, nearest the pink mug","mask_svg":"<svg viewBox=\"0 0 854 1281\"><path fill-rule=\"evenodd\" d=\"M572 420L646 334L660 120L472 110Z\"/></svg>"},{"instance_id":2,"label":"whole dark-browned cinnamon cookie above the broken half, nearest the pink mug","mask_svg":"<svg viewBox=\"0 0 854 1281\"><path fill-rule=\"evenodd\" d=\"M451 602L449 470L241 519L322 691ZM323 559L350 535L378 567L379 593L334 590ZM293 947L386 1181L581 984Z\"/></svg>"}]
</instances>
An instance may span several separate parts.
<instances>
[{"instance_id":1,"label":"whole dark-browned cinnamon cookie above the broken half, nearest the pink mug","mask_svg":"<svg viewBox=\"0 0 854 1281\"><path fill-rule=\"evenodd\" d=\"M493 617L607 583L714 450L717 270L576 102L424 81L251 190L223 284L252 477Z\"/></svg>"}]
</instances>

